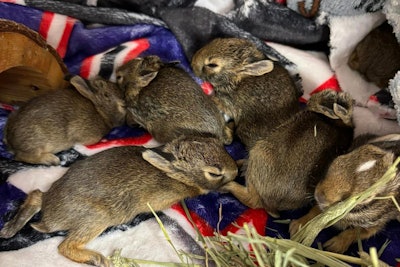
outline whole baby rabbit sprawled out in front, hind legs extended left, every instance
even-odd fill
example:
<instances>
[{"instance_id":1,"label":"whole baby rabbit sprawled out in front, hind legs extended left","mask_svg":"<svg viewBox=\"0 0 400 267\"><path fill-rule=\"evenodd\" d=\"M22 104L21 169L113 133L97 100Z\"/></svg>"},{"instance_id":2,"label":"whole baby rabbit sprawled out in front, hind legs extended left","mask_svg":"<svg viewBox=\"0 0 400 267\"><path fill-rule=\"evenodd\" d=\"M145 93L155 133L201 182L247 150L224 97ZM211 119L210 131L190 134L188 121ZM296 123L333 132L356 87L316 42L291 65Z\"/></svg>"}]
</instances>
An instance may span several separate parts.
<instances>
[{"instance_id":1,"label":"whole baby rabbit sprawled out in front, hind legs extended left","mask_svg":"<svg viewBox=\"0 0 400 267\"><path fill-rule=\"evenodd\" d=\"M31 225L44 233L68 230L58 247L62 255L111 266L103 255L84 246L108 227L149 212L147 203L160 211L216 190L236 175L236 162L215 138L181 137L160 152L135 146L111 148L73 164L49 191L30 193L0 237L12 237L42 211L41 221Z\"/></svg>"}]
</instances>

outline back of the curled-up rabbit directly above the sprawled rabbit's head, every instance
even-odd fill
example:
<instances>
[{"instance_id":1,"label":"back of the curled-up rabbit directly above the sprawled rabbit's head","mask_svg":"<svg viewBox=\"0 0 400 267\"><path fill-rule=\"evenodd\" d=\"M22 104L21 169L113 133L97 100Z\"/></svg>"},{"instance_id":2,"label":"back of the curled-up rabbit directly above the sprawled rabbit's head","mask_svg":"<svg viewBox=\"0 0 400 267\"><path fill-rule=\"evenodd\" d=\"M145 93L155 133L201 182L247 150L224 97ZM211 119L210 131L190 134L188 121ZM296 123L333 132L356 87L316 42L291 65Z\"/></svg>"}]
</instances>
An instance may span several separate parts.
<instances>
[{"instance_id":1,"label":"back of the curled-up rabbit directly above the sprawled rabbit's head","mask_svg":"<svg viewBox=\"0 0 400 267\"><path fill-rule=\"evenodd\" d=\"M211 134L222 138L224 118L184 70L160 69L138 95L133 107L154 138L162 143L181 135Z\"/></svg>"}]
</instances>

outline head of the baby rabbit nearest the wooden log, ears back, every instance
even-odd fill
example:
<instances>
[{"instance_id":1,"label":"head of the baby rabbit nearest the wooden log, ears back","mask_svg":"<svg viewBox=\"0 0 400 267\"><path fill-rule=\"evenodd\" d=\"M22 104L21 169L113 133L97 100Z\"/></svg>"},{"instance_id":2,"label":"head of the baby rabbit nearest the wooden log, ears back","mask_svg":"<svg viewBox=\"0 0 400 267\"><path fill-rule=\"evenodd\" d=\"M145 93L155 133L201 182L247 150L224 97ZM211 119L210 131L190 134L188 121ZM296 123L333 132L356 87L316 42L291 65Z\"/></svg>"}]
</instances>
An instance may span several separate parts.
<instances>
[{"instance_id":1,"label":"head of the baby rabbit nearest the wooden log, ears back","mask_svg":"<svg viewBox=\"0 0 400 267\"><path fill-rule=\"evenodd\" d=\"M78 75L71 77L70 83L82 96L93 103L107 126L113 128L124 124L125 101L121 90L115 83L100 77L86 81Z\"/></svg>"}]
</instances>

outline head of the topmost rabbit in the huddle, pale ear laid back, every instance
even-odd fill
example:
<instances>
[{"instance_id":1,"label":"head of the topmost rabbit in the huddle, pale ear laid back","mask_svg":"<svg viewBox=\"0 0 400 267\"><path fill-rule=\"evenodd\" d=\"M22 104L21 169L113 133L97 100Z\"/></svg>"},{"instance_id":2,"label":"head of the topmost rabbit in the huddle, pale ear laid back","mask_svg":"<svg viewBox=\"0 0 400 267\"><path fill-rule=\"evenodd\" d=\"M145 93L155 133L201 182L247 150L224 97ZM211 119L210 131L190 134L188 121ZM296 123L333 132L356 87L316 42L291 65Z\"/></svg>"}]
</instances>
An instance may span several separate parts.
<instances>
[{"instance_id":1,"label":"head of the topmost rabbit in the huddle, pale ear laid back","mask_svg":"<svg viewBox=\"0 0 400 267\"><path fill-rule=\"evenodd\" d=\"M192 58L194 73L214 87L233 87L244 77L261 76L273 67L253 43L240 38L214 39Z\"/></svg>"}]
</instances>

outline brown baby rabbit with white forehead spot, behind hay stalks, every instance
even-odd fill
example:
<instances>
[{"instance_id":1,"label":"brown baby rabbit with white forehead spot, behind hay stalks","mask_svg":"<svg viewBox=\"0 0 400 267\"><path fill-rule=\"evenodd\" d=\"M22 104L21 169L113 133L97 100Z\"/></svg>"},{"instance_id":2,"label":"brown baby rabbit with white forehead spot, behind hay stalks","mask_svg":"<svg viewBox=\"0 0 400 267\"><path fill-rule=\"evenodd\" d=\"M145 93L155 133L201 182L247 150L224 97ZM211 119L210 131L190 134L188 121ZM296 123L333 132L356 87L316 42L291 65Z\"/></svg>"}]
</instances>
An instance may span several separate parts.
<instances>
[{"instance_id":1,"label":"brown baby rabbit with white forehead spot, behind hay stalks","mask_svg":"<svg viewBox=\"0 0 400 267\"><path fill-rule=\"evenodd\" d=\"M387 135L369 141L337 157L330 165L325 178L315 189L317 205L300 219L293 220L290 233L294 235L301 225L328 207L361 193L372 186L389 169L400 155L400 135ZM339 235L323 244L330 251L344 253L358 238L367 239L383 230L391 220L400 220L400 212L391 199L376 197L394 196L400 201L400 174L375 192L373 197L357 205L336 223L342 229Z\"/></svg>"}]
</instances>

